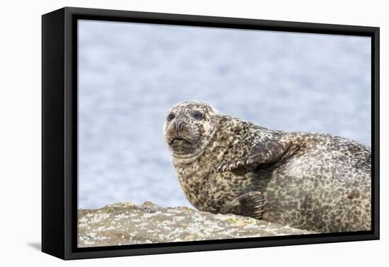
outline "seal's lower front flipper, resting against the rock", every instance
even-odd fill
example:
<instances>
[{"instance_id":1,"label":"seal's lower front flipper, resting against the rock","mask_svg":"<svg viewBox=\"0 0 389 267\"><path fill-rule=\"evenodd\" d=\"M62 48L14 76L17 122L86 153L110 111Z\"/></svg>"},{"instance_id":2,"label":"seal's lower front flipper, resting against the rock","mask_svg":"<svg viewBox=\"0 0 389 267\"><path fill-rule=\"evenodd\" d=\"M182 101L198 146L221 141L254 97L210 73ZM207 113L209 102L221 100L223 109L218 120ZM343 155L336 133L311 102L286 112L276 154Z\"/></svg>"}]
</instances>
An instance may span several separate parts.
<instances>
[{"instance_id":1,"label":"seal's lower front flipper, resting against the rock","mask_svg":"<svg viewBox=\"0 0 389 267\"><path fill-rule=\"evenodd\" d=\"M221 213L234 213L260 219L264 212L265 198L260 191L252 191L235 198Z\"/></svg>"}]
</instances>

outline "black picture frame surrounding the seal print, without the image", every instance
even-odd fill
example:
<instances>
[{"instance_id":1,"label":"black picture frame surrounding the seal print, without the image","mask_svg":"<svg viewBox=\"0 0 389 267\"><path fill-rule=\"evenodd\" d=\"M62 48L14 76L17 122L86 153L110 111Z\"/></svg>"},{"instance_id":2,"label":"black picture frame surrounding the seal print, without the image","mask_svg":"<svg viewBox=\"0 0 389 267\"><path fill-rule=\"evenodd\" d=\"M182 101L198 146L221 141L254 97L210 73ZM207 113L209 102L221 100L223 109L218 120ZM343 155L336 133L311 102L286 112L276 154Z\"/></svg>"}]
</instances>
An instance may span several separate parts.
<instances>
[{"instance_id":1,"label":"black picture frame surrounding the seal print, without the image","mask_svg":"<svg viewBox=\"0 0 389 267\"><path fill-rule=\"evenodd\" d=\"M371 37L372 230L77 248L79 19ZM61 259L379 239L379 28L65 7L42 16L42 251Z\"/></svg>"}]
</instances>

